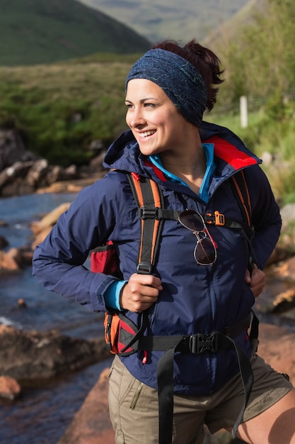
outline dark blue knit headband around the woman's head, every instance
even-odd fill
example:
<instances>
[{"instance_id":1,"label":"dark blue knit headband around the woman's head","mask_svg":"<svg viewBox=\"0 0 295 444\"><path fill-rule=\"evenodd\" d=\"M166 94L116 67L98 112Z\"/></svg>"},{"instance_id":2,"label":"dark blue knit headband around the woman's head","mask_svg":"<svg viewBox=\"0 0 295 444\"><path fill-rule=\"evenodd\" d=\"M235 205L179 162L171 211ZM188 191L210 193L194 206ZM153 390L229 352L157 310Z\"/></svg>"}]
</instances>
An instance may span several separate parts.
<instances>
[{"instance_id":1,"label":"dark blue knit headband around the woman's head","mask_svg":"<svg viewBox=\"0 0 295 444\"><path fill-rule=\"evenodd\" d=\"M126 79L147 79L163 89L183 117L195 126L202 122L207 104L204 79L194 65L174 52L154 49L132 66Z\"/></svg>"}]
</instances>

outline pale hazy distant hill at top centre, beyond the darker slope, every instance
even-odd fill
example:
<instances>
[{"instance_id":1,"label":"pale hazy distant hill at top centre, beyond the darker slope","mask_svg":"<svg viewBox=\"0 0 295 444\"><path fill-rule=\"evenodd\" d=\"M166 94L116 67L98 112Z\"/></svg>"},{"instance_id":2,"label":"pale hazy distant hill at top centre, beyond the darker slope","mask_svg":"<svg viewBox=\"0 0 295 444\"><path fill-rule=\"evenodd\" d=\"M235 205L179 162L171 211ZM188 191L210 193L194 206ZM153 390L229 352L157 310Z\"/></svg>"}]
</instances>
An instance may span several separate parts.
<instances>
[{"instance_id":1,"label":"pale hazy distant hill at top centre, beyond the darker slope","mask_svg":"<svg viewBox=\"0 0 295 444\"><path fill-rule=\"evenodd\" d=\"M152 42L202 41L214 28L225 23L249 0L79 0L120 19Z\"/></svg>"}]
</instances>

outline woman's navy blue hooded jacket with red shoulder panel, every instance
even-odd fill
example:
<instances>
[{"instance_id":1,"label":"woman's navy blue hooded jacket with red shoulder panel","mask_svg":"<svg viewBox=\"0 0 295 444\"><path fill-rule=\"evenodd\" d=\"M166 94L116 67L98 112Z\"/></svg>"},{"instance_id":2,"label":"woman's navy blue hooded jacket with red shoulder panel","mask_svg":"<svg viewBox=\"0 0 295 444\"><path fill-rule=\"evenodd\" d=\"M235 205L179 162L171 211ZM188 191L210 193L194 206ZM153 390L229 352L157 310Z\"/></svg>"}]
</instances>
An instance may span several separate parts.
<instances>
[{"instance_id":1,"label":"woman's navy blue hooded jacket with red shoulder panel","mask_svg":"<svg viewBox=\"0 0 295 444\"><path fill-rule=\"evenodd\" d=\"M206 204L182 184L158 177L147 166L130 131L122 133L110 146L105 166L151 176L163 189L165 207L199 213L218 210L226 217L242 221L238 203L231 192L229 177L243 169L252 206L253 251L263 268L277 243L281 228L279 208L261 162L241 140L226 128L202 123L203 142L214 143L216 170ZM156 274L163 291L151 309L149 328L153 335L184 335L220 331L245 318L253 307L253 292L244 282L248 265L248 245L240 229L209 226L216 243L213 265L200 266L193 251L196 238L178 221L165 221ZM124 279L137 271L140 222L137 205L126 174L110 171L95 184L83 189L68 211L60 216L45 241L38 245L33 273L47 289L62 294L93 311L106 311L103 295L114 277L95 274L83 265L88 253L108 239L117 246ZM137 314L127 311L137 322ZM248 335L236 342L250 356ZM122 358L129 372L156 388L156 365L162 352L149 353L146 364L142 352ZM234 351L221 350L203 355L175 354L175 392L210 394L238 372Z\"/></svg>"}]
</instances>

